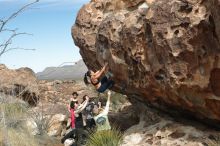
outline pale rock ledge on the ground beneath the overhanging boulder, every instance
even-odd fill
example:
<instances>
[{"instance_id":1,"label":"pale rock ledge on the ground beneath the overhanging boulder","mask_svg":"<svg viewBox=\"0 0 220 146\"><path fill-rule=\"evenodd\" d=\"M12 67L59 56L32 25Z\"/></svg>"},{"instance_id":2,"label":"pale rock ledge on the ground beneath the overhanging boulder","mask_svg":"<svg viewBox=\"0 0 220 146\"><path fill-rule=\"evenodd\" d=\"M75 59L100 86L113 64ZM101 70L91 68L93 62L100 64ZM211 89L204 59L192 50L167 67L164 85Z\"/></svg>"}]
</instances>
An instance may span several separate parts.
<instances>
[{"instance_id":1,"label":"pale rock ledge on the ground beneath the overhanging boulder","mask_svg":"<svg viewBox=\"0 0 220 146\"><path fill-rule=\"evenodd\" d=\"M217 146L220 144L219 131L210 130L195 121L182 118L177 121L142 104L136 105L136 108L138 109L135 113L139 115L140 121L126 130L121 146Z\"/></svg>"}]
</instances>

